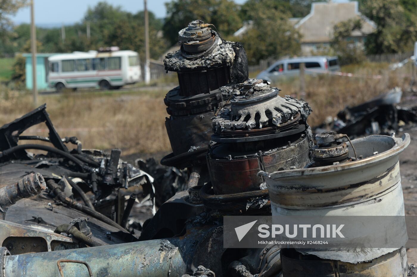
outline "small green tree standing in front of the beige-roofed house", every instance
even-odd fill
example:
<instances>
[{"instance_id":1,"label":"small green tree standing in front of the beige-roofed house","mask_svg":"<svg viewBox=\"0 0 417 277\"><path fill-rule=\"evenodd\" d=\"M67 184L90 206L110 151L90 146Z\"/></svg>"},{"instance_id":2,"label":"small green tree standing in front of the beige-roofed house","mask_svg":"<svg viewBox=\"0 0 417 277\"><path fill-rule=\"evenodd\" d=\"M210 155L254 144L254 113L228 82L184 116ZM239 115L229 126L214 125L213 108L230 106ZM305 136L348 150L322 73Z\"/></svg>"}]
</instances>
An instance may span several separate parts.
<instances>
[{"instance_id":1,"label":"small green tree standing in front of the beige-roofed house","mask_svg":"<svg viewBox=\"0 0 417 277\"><path fill-rule=\"evenodd\" d=\"M350 19L334 26L331 46L339 56L340 64L358 64L365 60L364 46L352 40L352 32L362 30L360 19Z\"/></svg>"}]
</instances>

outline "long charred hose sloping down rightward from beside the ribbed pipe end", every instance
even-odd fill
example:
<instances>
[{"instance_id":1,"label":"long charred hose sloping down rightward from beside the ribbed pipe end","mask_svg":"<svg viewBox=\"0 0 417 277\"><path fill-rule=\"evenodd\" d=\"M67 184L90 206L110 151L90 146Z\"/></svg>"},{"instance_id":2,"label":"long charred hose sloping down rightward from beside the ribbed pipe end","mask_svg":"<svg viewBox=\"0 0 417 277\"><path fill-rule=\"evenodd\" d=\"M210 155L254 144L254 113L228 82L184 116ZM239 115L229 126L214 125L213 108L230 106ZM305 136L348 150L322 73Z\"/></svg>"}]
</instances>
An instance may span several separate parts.
<instances>
[{"instance_id":1,"label":"long charred hose sloping down rightward from beside the ribbed pipe end","mask_svg":"<svg viewBox=\"0 0 417 277\"><path fill-rule=\"evenodd\" d=\"M63 191L61 190L60 186L57 183L55 183L55 181L53 181L52 179L49 179L46 182L46 184L48 185L48 188L52 190L52 192L56 195L56 197L65 205L71 208L75 208L77 210L83 211L84 213L91 215L93 218L97 218L98 220L101 220L104 223L107 223L108 225L111 225L114 228L117 228L123 232L128 232L125 228L118 225L116 222L114 222L110 218L106 217L106 215L98 213L97 211L87 206L81 205L77 201L71 200L70 198L66 197Z\"/></svg>"}]
</instances>

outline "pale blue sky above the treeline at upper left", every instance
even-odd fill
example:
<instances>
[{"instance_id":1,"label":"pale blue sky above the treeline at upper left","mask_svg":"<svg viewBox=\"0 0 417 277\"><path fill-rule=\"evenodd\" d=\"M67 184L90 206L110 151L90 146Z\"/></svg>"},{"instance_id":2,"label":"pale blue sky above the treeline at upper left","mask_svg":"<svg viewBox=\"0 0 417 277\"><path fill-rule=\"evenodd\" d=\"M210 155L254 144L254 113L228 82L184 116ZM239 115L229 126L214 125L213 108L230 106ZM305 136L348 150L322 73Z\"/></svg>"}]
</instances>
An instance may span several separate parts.
<instances>
[{"instance_id":1,"label":"pale blue sky above the treeline at upper left","mask_svg":"<svg viewBox=\"0 0 417 277\"><path fill-rule=\"evenodd\" d=\"M40 27L57 27L80 22L88 7L94 7L100 0L33 0L35 3L35 22ZM143 0L107 0L111 5L120 5L123 10L136 13L143 10ZM156 17L166 15L164 3L168 0L148 0L148 10ZM235 0L242 4L245 0ZM15 24L30 23L30 8L19 10L11 16Z\"/></svg>"}]
</instances>

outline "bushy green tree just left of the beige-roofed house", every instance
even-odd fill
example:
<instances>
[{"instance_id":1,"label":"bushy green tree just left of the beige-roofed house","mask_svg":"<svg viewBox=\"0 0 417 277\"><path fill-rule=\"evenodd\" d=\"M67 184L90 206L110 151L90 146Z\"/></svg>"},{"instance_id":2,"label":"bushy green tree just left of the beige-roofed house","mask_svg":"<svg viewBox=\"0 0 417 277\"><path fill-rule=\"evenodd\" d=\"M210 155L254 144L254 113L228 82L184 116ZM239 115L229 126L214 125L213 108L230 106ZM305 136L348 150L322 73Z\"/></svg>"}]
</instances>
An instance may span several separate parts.
<instances>
[{"instance_id":1,"label":"bushy green tree just left of the beige-roofed house","mask_svg":"<svg viewBox=\"0 0 417 277\"><path fill-rule=\"evenodd\" d=\"M300 34L289 23L291 15L283 5L274 0L249 0L242 6L242 14L252 18L252 27L239 39L249 64L299 53Z\"/></svg>"}]
</instances>

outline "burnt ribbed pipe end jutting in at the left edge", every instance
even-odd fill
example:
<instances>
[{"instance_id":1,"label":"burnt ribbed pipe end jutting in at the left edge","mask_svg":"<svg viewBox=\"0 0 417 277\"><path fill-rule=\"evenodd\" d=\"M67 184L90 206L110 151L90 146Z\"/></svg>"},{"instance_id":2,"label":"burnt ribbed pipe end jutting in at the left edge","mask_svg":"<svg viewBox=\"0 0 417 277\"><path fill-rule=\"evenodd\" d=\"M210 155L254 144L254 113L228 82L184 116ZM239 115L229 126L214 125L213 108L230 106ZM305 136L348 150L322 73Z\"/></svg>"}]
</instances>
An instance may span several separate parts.
<instances>
[{"instance_id":1,"label":"burnt ribbed pipe end jutting in at the left edge","mask_svg":"<svg viewBox=\"0 0 417 277\"><path fill-rule=\"evenodd\" d=\"M30 173L18 183L0 188L0 208L8 208L22 198L38 195L45 188L43 176L39 173Z\"/></svg>"}]
</instances>

